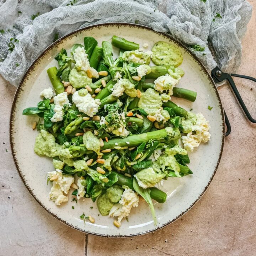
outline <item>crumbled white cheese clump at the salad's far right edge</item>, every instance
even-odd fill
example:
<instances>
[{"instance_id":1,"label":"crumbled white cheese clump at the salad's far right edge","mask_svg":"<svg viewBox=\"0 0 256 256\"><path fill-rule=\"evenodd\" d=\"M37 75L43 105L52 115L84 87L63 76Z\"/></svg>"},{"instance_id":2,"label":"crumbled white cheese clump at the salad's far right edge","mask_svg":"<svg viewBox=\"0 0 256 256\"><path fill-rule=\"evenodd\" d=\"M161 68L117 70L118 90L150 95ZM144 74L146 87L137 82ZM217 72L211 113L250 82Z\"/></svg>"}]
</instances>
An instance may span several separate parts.
<instances>
[{"instance_id":1,"label":"crumbled white cheese clump at the salad's far right edge","mask_svg":"<svg viewBox=\"0 0 256 256\"><path fill-rule=\"evenodd\" d=\"M187 151L193 151L201 142L206 143L210 140L211 135L209 133L209 121L206 121L201 113L198 113L196 117L197 121L196 124L192 126L192 132L181 137L184 148ZM194 132L196 133L194 134Z\"/></svg>"}]
</instances>

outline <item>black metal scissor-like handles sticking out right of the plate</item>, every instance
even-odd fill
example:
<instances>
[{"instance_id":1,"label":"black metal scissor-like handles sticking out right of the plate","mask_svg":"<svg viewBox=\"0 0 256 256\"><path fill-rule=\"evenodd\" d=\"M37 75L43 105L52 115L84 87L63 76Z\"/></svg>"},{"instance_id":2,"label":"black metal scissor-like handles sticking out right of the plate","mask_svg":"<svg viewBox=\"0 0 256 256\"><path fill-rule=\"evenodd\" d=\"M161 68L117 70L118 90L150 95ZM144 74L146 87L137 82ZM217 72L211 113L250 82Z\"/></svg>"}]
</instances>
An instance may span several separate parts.
<instances>
[{"instance_id":1,"label":"black metal scissor-like handles sticking out right of the plate","mask_svg":"<svg viewBox=\"0 0 256 256\"><path fill-rule=\"evenodd\" d=\"M244 101L242 100L242 97L235 85L235 82L233 80L233 78L231 76L236 76L236 77L239 77L239 78L244 78L244 79L249 79L249 80L252 80L254 82L256 82L256 79L255 78L252 78L251 76L245 76L245 75L239 75L239 74L231 74L229 75L228 73L223 73L219 67L216 67L212 70L212 78L214 80L214 82L222 82L224 80L228 80L240 106L242 107L242 110L244 111L246 117L249 119L250 122L252 123L256 123L256 119L252 118L249 110L247 109L247 107L245 106L245 103ZM225 114L225 123L226 123L226 127L227 127L227 130L226 130L226 136L228 136L231 132L231 126L230 126L230 122L229 122L229 119L228 119L228 116L226 115L225 111L224 111L224 114Z\"/></svg>"}]
</instances>

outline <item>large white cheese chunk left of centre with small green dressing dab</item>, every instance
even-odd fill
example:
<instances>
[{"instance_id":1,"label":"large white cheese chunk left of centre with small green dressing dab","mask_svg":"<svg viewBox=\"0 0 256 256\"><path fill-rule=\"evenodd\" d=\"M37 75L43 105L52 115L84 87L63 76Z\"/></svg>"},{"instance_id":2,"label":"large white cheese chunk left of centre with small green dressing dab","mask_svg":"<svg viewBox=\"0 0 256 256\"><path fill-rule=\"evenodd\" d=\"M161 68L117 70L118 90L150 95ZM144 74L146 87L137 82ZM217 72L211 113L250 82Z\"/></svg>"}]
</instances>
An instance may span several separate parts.
<instances>
[{"instance_id":1,"label":"large white cheese chunk left of centre with small green dressing dab","mask_svg":"<svg viewBox=\"0 0 256 256\"><path fill-rule=\"evenodd\" d=\"M80 96L78 91L73 94L72 100L80 112L83 112L90 117L98 112L98 107L101 105L99 99L95 100L89 93L85 96Z\"/></svg>"}]
</instances>

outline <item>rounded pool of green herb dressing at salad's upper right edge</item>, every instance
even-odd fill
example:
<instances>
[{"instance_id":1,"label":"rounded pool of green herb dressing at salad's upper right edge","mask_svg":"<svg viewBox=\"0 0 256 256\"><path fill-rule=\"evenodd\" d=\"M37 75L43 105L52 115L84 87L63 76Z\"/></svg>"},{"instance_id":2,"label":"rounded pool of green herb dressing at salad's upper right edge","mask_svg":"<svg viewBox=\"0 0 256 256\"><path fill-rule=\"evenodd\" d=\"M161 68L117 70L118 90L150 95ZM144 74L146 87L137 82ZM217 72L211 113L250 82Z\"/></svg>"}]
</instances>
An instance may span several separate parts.
<instances>
[{"instance_id":1,"label":"rounded pool of green herb dressing at salad's upper right edge","mask_svg":"<svg viewBox=\"0 0 256 256\"><path fill-rule=\"evenodd\" d=\"M180 50L174 45L163 41L154 44L152 61L156 65L179 66L183 61Z\"/></svg>"}]
</instances>

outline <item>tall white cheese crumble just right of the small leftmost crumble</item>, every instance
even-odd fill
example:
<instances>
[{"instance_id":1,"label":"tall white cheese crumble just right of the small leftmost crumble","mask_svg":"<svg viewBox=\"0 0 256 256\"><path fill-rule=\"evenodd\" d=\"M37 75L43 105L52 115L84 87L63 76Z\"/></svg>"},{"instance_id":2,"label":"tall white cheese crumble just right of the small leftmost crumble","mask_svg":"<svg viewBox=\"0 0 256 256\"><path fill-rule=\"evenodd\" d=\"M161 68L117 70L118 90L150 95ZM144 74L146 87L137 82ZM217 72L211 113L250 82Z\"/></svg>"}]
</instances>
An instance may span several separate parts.
<instances>
[{"instance_id":1,"label":"tall white cheese crumble just right of the small leftmost crumble","mask_svg":"<svg viewBox=\"0 0 256 256\"><path fill-rule=\"evenodd\" d=\"M59 122L63 119L63 107L64 105L71 106L68 100L68 94L66 92L62 92L61 94L58 94L53 97L54 100L54 114L51 118L52 122Z\"/></svg>"}]
</instances>

